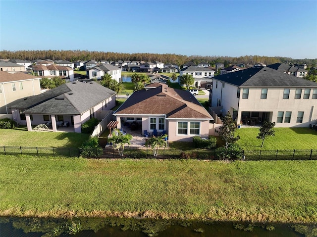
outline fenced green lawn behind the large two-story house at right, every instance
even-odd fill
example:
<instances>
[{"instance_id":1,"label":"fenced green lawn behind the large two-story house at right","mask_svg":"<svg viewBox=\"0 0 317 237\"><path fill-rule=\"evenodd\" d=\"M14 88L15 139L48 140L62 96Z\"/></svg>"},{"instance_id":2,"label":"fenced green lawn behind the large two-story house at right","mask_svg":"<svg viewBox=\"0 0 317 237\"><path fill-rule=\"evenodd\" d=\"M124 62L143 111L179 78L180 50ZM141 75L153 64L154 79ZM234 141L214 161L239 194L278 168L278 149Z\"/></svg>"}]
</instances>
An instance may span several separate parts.
<instances>
[{"instance_id":1,"label":"fenced green lawn behind the large two-story house at right","mask_svg":"<svg viewBox=\"0 0 317 237\"><path fill-rule=\"evenodd\" d=\"M237 129L237 142L244 150L292 150L317 149L317 131L310 128L274 128L275 136L268 137L261 148L262 140L257 139L259 128Z\"/></svg>"}]
</instances>

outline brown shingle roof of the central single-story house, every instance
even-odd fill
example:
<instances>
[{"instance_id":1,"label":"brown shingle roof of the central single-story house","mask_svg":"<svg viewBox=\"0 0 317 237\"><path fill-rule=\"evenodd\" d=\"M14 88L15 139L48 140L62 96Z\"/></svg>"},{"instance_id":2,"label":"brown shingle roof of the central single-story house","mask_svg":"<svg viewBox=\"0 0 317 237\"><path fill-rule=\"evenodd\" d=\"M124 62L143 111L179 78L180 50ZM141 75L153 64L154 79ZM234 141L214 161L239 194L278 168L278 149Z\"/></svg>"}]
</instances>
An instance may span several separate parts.
<instances>
[{"instance_id":1,"label":"brown shingle roof of the central single-story house","mask_svg":"<svg viewBox=\"0 0 317 237\"><path fill-rule=\"evenodd\" d=\"M134 92L114 114L166 114L167 118L212 119L194 95L163 84Z\"/></svg>"}]
</instances>

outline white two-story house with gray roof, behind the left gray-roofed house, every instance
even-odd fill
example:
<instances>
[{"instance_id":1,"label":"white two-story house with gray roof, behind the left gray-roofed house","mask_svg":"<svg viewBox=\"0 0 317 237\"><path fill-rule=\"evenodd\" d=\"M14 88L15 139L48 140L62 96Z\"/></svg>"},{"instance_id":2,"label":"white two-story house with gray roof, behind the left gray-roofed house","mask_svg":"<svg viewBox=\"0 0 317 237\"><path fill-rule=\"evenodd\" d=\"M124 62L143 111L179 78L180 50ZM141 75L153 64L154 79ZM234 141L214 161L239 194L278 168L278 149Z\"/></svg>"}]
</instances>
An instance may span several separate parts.
<instances>
[{"instance_id":1,"label":"white two-story house with gray roof, behind the left gray-roofed house","mask_svg":"<svg viewBox=\"0 0 317 237\"><path fill-rule=\"evenodd\" d=\"M121 82L121 69L111 64L98 64L88 69L89 79L101 80L105 74L109 74L113 80Z\"/></svg>"}]
</instances>

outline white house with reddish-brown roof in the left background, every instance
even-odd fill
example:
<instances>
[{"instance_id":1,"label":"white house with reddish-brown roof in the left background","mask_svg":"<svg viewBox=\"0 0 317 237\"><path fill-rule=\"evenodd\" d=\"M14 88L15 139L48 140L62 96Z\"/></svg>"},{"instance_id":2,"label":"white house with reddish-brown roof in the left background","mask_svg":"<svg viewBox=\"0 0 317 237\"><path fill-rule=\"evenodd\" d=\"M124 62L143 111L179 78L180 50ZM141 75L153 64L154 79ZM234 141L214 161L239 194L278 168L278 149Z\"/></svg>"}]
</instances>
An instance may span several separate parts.
<instances>
[{"instance_id":1,"label":"white house with reddish-brown roof in the left background","mask_svg":"<svg viewBox=\"0 0 317 237\"><path fill-rule=\"evenodd\" d=\"M31 69L40 77L60 77L62 79L65 79L66 82L74 81L74 70L70 67L57 66L54 64L51 64L49 66L39 64L32 66Z\"/></svg>"}]
</instances>

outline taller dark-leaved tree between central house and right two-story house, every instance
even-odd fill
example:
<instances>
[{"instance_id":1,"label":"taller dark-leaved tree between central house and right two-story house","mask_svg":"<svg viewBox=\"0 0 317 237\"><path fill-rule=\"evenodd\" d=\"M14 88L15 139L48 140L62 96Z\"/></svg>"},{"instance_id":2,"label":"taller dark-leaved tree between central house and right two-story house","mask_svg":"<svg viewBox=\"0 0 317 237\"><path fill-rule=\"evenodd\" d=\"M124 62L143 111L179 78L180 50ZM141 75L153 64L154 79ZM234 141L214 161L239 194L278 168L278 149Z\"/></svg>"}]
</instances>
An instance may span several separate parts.
<instances>
[{"instance_id":1,"label":"taller dark-leaved tree between central house and right two-story house","mask_svg":"<svg viewBox=\"0 0 317 237\"><path fill-rule=\"evenodd\" d=\"M226 142L226 149L228 149L229 144L233 144L234 142L237 142L240 137L234 136L234 133L237 130L237 126L235 121L233 121L230 111L224 116L222 119L222 126L219 128L219 130L214 130L217 134L219 134L219 137Z\"/></svg>"}]
</instances>

